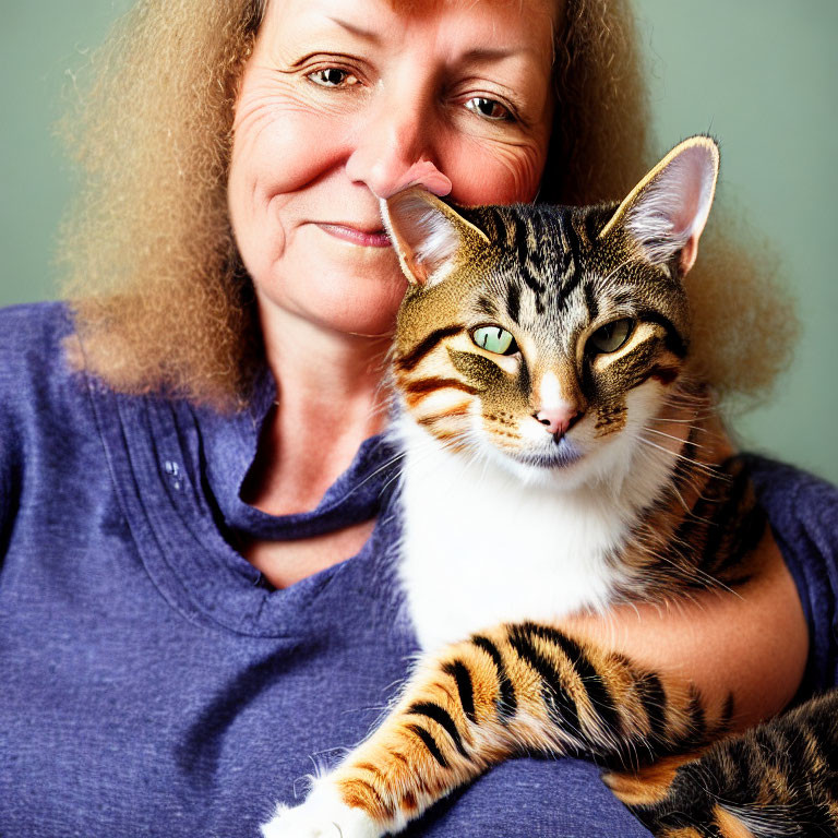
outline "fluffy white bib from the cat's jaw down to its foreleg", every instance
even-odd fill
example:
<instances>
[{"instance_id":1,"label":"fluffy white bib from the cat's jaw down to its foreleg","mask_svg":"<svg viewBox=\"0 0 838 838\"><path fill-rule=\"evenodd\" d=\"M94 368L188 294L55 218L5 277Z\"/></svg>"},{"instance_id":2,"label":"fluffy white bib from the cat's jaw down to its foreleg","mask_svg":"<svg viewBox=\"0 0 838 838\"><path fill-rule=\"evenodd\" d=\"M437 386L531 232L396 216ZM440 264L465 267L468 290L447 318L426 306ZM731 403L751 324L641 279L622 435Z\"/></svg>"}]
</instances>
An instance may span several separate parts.
<instances>
[{"instance_id":1,"label":"fluffy white bib from the cat's jaw down to its foreleg","mask_svg":"<svg viewBox=\"0 0 838 838\"><path fill-rule=\"evenodd\" d=\"M409 416L397 420L407 450L400 574L424 648L499 622L608 607L625 580L612 556L674 465L641 440L659 404L656 384L638 387L625 428L579 443L583 457L553 469L488 444L452 454Z\"/></svg>"}]
</instances>

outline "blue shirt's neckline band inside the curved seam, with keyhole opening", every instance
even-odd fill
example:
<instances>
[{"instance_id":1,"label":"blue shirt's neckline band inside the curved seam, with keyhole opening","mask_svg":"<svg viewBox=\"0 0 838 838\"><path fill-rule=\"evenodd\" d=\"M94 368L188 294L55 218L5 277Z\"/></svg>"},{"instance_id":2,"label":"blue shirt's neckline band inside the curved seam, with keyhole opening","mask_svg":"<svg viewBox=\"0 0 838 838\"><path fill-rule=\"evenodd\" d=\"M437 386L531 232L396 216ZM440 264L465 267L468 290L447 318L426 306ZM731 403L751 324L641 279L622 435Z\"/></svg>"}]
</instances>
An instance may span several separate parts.
<instances>
[{"instance_id":1,"label":"blue shirt's neckline band inside the curved seam, with keyhole opening","mask_svg":"<svg viewBox=\"0 0 838 838\"><path fill-rule=\"evenodd\" d=\"M381 582L382 574L394 573L398 541L397 457L384 434L364 441L314 510L271 516L239 496L273 405L268 371L260 374L253 397L236 414L184 399L118 394L93 379L88 392L140 559L184 618L254 636L297 636L321 623L323 630L339 625L345 586L367 597L371 608L392 600L387 589L397 588L395 578L384 588ZM265 589L260 572L228 540L232 531L301 538L376 516L357 555L280 590Z\"/></svg>"}]
</instances>

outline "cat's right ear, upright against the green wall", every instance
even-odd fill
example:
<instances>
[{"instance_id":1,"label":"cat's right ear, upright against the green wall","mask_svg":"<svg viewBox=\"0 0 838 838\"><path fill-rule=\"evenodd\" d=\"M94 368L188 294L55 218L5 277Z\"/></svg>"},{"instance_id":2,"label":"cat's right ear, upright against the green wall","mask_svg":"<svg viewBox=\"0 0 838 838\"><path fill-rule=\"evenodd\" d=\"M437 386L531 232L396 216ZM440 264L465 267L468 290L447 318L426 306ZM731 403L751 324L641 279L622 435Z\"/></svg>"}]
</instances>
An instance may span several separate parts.
<instances>
[{"instance_id":1,"label":"cat's right ear, upright against the green wall","mask_svg":"<svg viewBox=\"0 0 838 838\"><path fill-rule=\"evenodd\" d=\"M709 136L677 145L628 194L599 235L619 232L654 264L677 259L681 276L695 264L719 173L719 146Z\"/></svg>"}]
</instances>

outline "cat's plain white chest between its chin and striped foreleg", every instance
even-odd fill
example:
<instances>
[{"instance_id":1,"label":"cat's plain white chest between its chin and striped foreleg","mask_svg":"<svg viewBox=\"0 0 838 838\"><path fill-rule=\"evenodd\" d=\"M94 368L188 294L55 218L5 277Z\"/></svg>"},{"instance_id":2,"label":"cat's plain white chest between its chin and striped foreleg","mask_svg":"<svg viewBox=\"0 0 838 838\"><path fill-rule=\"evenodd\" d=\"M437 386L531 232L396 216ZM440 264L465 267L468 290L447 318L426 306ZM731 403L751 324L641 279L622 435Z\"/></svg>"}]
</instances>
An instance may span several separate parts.
<instances>
[{"instance_id":1,"label":"cat's plain white chest between its chin and striped foreleg","mask_svg":"<svg viewBox=\"0 0 838 838\"><path fill-rule=\"evenodd\" d=\"M501 621L604 607L628 525L590 493L526 486L493 464L408 452L400 572L424 648Z\"/></svg>"}]
</instances>

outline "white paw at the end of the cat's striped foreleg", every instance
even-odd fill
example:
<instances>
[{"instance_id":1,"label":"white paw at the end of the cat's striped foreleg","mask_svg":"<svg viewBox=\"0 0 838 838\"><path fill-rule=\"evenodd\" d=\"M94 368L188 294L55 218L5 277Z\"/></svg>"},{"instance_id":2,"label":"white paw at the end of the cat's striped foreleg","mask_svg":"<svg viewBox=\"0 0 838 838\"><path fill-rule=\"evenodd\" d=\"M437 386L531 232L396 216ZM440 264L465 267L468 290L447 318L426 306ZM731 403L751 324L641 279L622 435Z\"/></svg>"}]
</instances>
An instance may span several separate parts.
<instances>
[{"instance_id":1,"label":"white paw at the end of the cat's striped foreleg","mask_svg":"<svg viewBox=\"0 0 838 838\"><path fill-rule=\"evenodd\" d=\"M327 786L315 788L302 805L279 805L262 826L264 838L381 838L384 833L360 809L350 809Z\"/></svg>"}]
</instances>

